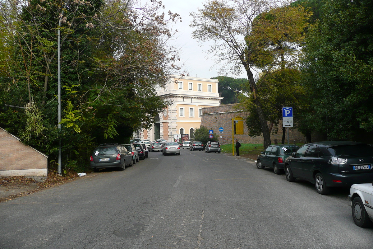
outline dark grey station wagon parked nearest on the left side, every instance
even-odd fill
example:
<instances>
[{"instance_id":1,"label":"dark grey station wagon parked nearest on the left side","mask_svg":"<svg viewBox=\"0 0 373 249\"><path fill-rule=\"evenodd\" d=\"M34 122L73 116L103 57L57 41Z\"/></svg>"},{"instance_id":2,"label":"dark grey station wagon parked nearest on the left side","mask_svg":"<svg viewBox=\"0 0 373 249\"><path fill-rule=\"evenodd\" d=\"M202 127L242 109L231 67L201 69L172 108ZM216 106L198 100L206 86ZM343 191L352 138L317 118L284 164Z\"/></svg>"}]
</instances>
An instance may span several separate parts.
<instances>
[{"instance_id":1,"label":"dark grey station wagon parked nearest on the left side","mask_svg":"<svg viewBox=\"0 0 373 249\"><path fill-rule=\"evenodd\" d=\"M94 172L101 168L116 167L125 170L127 165L133 165L132 155L124 146L117 143L100 144L90 158L90 167Z\"/></svg>"}]
</instances>

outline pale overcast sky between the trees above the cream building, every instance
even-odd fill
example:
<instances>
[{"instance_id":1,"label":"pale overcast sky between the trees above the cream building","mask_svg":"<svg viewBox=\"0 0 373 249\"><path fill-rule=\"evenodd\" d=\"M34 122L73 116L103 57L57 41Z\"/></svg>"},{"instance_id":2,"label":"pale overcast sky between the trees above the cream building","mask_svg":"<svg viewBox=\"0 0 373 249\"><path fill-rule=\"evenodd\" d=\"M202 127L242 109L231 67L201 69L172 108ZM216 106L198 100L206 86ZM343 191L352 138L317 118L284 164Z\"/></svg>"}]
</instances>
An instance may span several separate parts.
<instances>
[{"instance_id":1,"label":"pale overcast sky between the trees above the cream building","mask_svg":"<svg viewBox=\"0 0 373 249\"><path fill-rule=\"evenodd\" d=\"M209 49L207 44L204 47L200 47L197 41L194 40L191 35L194 29L189 27L192 18L189 16L190 12L197 12L197 8L203 7L203 0L162 0L165 7L164 12L167 13L170 10L173 13L178 13L182 22L173 24L173 29L177 29L179 32L176 34L176 39L172 42L177 47L181 47L180 57L184 62L185 70L189 76L200 77L200 78L211 78L217 77L219 66L214 67L214 60L212 56L210 59L206 59L208 56L205 52ZM232 75L225 75L234 77ZM238 78L246 78L247 75L242 74Z\"/></svg>"}]
</instances>

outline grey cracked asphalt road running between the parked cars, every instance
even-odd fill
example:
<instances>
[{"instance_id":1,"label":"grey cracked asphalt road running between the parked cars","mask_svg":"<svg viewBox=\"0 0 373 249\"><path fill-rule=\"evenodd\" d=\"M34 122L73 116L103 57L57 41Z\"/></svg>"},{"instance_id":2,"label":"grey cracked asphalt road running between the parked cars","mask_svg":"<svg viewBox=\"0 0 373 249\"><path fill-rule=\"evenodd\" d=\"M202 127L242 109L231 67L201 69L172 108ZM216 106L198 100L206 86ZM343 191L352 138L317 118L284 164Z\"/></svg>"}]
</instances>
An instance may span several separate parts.
<instances>
[{"instance_id":1,"label":"grey cracked asphalt road running between the parked cars","mask_svg":"<svg viewBox=\"0 0 373 249\"><path fill-rule=\"evenodd\" d=\"M236 156L150 152L0 203L0 248L371 249L373 228L354 224L347 194Z\"/></svg>"}]
</instances>

